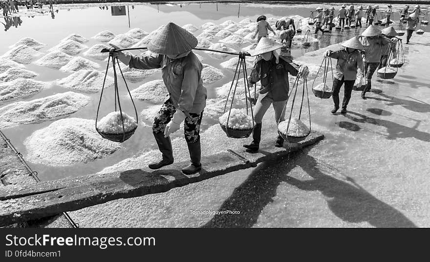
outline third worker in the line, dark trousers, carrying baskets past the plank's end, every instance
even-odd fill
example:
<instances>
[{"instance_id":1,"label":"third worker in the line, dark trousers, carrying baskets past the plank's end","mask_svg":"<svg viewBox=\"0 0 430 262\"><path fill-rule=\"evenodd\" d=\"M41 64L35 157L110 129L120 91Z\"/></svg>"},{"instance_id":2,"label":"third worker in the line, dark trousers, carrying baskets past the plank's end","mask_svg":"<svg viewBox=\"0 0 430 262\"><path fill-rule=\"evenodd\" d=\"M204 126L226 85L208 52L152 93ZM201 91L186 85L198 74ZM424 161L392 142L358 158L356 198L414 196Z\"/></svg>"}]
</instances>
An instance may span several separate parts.
<instances>
[{"instance_id":1,"label":"third worker in the line, dark trousers, carrying baskets past the plank's end","mask_svg":"<svg viewBox=\"0 0 430 262\"><path fill-rule=\"evenodd\" d=\"M333 114L339 110L339 92L342 85L344 85L344 100L342 102L341 113L346 113L346 107L351 99L352 87L357 79L357 69L359 68L363 71L364 68L362 55L360 53L361 50L364 50L364 46L360 43L358 38L355 36L341 43L341 45L344 47L341 50L334 52L327 50L324 53L324 57L331 57L338 60L333 81L332 97L334 108L331 110Z\"/></svg>"}]
</instances>

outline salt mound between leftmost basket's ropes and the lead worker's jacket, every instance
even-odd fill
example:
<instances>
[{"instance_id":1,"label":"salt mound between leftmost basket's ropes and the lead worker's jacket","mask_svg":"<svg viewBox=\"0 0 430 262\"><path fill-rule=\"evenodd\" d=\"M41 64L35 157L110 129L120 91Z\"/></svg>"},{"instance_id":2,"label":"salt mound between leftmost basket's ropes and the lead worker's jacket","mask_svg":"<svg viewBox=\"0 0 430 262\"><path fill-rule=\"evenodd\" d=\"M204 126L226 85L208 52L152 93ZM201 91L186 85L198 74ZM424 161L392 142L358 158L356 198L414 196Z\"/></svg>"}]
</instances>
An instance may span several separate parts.
<instances>
[{"instance_id":1,"label":"salt mound between leftmost basket's ropes and the lead worker's jacket","mask_svg":"<svg viewBox=\"0 0 430 262\"><path fill-rule=\"evenodd\" d=\"M133 89L130 93L133 99L164 102L167 90L163 80L153 80Z\"/></svg>"}]
</instances>

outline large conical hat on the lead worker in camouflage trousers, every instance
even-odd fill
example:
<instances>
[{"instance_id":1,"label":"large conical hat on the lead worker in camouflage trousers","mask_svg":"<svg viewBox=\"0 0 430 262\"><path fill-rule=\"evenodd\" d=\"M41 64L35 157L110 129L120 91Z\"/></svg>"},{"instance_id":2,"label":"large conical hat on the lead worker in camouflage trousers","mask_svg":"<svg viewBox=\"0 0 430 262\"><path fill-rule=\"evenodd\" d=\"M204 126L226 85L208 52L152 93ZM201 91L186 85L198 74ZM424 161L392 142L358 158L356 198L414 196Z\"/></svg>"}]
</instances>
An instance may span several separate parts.
<instances>
[{"instance_id":1,"label":"large conical hat on the lead worker in camouflage trousers","mask_svg":"<svg viewBox=\"0 0 430 262\"><path fill-rule=\"evenodd\" d=\"M198 40L192 33L169 22L151 39L148 50L156 54L179 55L191 51L197 44Z\"/></svg>"}]
</instances>

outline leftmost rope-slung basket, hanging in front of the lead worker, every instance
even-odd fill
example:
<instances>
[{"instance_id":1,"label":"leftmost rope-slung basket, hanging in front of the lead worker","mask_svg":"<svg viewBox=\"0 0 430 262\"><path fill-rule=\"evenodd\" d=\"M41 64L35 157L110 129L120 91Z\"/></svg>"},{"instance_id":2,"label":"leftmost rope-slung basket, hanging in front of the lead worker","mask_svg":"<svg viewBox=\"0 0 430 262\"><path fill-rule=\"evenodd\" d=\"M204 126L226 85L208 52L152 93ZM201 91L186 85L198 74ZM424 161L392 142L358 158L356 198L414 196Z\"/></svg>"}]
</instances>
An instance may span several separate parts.
<instances>
[{"instance_id":1,"label":"leftmost rope-slung basket, hanging in front of the lead worker","mask_svg":"<svg viewBox=\"0 0 430 262\"><path fill-rule=\"evenodd\" d=\"M123 72L122 72L121 67L119 65L118 58L116 58L116 57L113 56L113 52L115 50L113 48L111 48L110 50L107 50L106 48L104 48L102 50L102 52L107 52L107 51L109 52L108 65L106 67L105 78L103 80L103 87L102 87L102 91L100 93L99 105L97 107L95 128L96 128L96 131L102 137L104 137L104 138L106 138L106 139L108 139L110 141L124 142L127 139L129 139L134 134L134 131L136 131L136 129L137 129L137 124L138 124L137 110L136 110L136 106L134 105L133 98L131 97L131 93L130 93L129 87L127 85L126 79L124 78ZM108 75L109 62L110 62L111 58L112 58L112 68L113 68L113 80L114 80L114 101L115 101L114 109L115 109L115 112L117 111L117 109L119 109L119 113L120 113L120 116L121 116L122 130L123 130L122 133L107 133L107 132L99 130L99 128L97 127L97 119L99 118L100 105L101 105L101 102L102 102L103 91L105 89L105 82L106 82L106 77ZM118 69L119 69L119 71L121 73L121 76L122 76L122 78L124 80L124 83L125 83L125 86L127 88L128 93L129 93L129 96L130 96L130 99L131 99L131 103L133 104L134 113L135 113L135 116L136 116L136 127L134 127L133 129L131 129L129 131L126 131L125 126L124 126L124 116L123 116L123 110L121 108L121 101L120 101L120 96L119 96L119 91L118 91L118 78L117 78L117 75L116 75L115 62L117 63ZM118 107L117 107L117 104L118 104Z\"/></svg>"}]
</instances>

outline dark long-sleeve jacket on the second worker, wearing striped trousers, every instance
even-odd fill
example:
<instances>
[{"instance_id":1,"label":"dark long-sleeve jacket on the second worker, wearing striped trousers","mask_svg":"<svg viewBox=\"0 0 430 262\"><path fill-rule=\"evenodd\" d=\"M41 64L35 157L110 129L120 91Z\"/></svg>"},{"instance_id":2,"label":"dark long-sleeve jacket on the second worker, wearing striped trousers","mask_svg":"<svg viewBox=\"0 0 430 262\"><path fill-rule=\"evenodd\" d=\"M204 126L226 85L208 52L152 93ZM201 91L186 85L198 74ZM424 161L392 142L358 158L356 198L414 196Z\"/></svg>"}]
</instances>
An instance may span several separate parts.
<instances>
[{"instance_id":1,"label":"dark long-sleeve jacket on the second worker, wearing striped trousers","mask_svg":"<svg viewBox=\"0 0 430 262\"><path fill-rule=\"evenodd\" d=\"M297 76L299 66L283 57L279 57L277 64L274 55L269 61L258 58L250 74L250 83L260 81L262 87L271 87L269 92L260 95L270 97L273 101L284 101L287 100L290 89L288 73Z\"/></svg>"}]
</instances>

